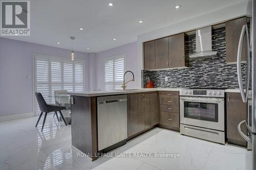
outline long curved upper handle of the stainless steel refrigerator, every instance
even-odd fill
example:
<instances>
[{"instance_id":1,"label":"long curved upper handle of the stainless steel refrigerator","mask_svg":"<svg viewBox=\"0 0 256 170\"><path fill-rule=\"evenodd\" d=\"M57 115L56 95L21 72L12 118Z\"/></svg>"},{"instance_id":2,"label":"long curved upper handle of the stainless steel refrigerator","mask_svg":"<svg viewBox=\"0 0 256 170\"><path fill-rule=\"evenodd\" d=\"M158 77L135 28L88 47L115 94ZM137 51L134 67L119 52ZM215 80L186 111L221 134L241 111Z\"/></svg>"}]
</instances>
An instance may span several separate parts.
<instances>
[{"instance_id":1,"label":"long curved upper handle of the stainless steel refrigerator","mask_svg":"<svg viewBox=\"0 0 256 170\"><path fill-rule=\"evenodd\" d=\"M246 103L247 101L247 93L248 93L248 88L249 88L249 81L246 81L246 93L244 92L244 88L243 88L243 80L242 80L242 72L241 72L241 55L242 55L242 44L243 44L243 40L244 40L244 35L246 34L246 39L247 39L247 44L249 42L248 39L248 30L247 30L247 25L244 25L242 28L242 32L240 35L240 40L239 40L239 44L238 44L238 58L237 58L237 71L238 71L238 83L239 83L239 88L240 88L240 93L242 96L242 100L244 103ZM248 45L247 45L248 46ZM249 47L249 46L248 46ZM249 63L249 51L247 50L247 61ZM249 64L247 64L247 71L249 70ZM247 76L249 74L249 71L247 72ZM249 78L249 76L247 77Z\"/></svg>"}]
</instances>

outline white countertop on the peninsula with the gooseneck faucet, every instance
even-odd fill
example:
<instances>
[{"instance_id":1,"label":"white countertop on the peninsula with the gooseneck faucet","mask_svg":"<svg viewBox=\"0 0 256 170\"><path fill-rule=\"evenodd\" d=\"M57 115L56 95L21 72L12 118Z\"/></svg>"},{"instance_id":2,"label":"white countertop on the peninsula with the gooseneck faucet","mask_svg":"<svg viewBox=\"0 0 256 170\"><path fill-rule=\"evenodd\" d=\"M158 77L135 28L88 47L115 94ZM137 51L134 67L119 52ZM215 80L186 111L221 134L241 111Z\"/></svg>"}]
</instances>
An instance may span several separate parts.
<instances>
[{"instance_id":1,"label":"white countertop on the peninsula with the gooseneck faucet","mask_svg":"<svg viewBox=\"0 0 256 170\"><path fill-rule=\"evenodd\" d=\"M75 92L68 92L68 94L92 97L92 96L102 96L102 95L146 92L146 91L180 91L181 89L184 89L184 88L141 88L141 89L132 89L132 90L75 91Z\"/></svg>"}]
</instances>

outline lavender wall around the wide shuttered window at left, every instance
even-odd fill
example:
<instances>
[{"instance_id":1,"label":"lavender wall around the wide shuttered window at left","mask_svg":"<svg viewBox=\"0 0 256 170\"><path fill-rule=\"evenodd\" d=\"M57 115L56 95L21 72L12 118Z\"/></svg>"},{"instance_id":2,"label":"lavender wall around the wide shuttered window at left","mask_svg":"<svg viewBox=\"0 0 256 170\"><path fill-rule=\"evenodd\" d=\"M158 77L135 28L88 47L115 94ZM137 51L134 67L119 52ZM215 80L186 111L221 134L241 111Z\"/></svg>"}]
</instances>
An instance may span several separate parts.
<instances>
[{"instance_id":1,"label":"lavender wall around the wide shuttered window at left","mask_svg":"<svg viewBox=\"0 0 256 170\"><path fill-rule=\"evenodd\" d=\"M0 116L33 112L32 54L70 57L70 51L23 41L0 38ZM89 54L75 52L86 60L86 87L89 87Z\"/></svg>"}]
</instances>

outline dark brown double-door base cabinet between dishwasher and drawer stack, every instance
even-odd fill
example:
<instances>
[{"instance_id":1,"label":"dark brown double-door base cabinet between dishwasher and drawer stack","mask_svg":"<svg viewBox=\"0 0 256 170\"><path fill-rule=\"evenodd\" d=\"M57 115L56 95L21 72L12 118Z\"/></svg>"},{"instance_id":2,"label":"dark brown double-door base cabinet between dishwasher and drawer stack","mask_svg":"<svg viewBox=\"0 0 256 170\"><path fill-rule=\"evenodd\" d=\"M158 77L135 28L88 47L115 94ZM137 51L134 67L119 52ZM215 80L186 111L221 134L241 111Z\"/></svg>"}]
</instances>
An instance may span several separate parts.
<instances>
[{"instance_id":1,"label":"dark brown double-door base cabinet between dishwasher and drawer stack","mask_svg":"<svg viewBox=\"0 0 256 170\"><path fill-rule=\"evenodd\" d=\"M159 123L158 93L127 94L128 137Z\"/></svg>"}]
</instances>

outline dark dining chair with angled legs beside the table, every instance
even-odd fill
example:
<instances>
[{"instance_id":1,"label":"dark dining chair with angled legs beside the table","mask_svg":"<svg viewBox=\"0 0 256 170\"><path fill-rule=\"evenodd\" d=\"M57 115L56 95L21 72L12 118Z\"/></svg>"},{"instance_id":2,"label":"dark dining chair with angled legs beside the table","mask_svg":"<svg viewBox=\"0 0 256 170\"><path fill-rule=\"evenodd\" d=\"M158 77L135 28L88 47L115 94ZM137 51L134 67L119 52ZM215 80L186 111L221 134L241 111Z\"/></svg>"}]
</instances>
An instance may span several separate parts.
<instances>
[{"instance_id":1,"label":"dark dining chair with angled legs beside the table","mask_svg":"<svg viewBox=\"0 0 256 170\"><path fill-rule=\"evenodd\" d=\"M36 123L35 127L37 127L37 124L39 123L39 120L40 120L40 118L41 118L41 116L42 116L42 113L45 112L44 122L42 122L42 129L44 129L47 113L55 112L55 114L57 115L57 111L59 112L60 116L61 116L62 119L63 119L63 122L64 122L65 125L67 126L67 123L66 123L66 121L65 121L65 118L63 117L63 115L62 115L62 113L61 113L61 110L65 110L65 109L66 109L65 106L57 106L57 105L54 105L54 104L48 104L48 103L46 103L44 97L43 97L42 94L39 93L39 92L35 92L35 96L36 96L37 103L38 103L39 108L40 108L40 111L41 111L41 114L39 115L39 118L38 118L38 120L37 120L37 123ZM41 131L42 131L42 129L41 129Z\"/></svg>"}]
</instances>

